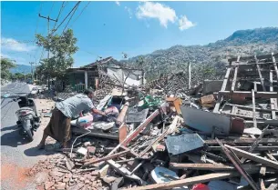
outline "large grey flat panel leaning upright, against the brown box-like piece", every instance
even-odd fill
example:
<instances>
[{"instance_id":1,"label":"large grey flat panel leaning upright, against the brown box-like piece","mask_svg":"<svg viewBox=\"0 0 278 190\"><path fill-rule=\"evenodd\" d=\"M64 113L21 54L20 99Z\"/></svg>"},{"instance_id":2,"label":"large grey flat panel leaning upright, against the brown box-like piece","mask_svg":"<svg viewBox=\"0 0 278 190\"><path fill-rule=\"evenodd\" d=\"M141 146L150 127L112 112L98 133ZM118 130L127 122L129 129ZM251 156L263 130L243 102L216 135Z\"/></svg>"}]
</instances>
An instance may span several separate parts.
<instances>
[{"instance_id":1,"label":"large grey flat panel leaning upright, against the brown box-like piece","mask_svg":"<svg viewBox=\"0 0 278 190\"><path fill-rule=\"evenodd\" d=\"M205 112L192 107L180 106L181 114L186 125L205 134L211 134L215 128L216 135L229 135L231 118L211 112Z\"/></svg>"}]
</instances>

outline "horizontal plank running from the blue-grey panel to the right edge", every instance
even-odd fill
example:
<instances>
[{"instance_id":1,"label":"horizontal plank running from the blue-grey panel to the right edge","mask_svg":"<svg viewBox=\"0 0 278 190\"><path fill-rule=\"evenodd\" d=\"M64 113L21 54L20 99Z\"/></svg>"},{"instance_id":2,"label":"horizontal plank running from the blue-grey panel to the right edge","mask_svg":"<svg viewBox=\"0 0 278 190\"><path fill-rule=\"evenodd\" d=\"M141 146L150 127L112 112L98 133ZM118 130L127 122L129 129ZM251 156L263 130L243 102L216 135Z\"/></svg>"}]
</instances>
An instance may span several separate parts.
<instances>
[{"instance_id":1,"label":"horizontal plank running from the blue-grey panel to the right edge","mask_svg":"<svg viewBox=\"0 0 278 190\"><path fill-rule=\"evenodd\" d=\"M221 140L224 144L253 144L256 141L256 139L253 138L239 138L236 140ZM205 140L205 144L207 145L218 145L217 141L212 140ZM260 141L260 144L266 145L266 144L273 144L278 145L278 138L262 138Z\"/></svg>"}]
</instances>

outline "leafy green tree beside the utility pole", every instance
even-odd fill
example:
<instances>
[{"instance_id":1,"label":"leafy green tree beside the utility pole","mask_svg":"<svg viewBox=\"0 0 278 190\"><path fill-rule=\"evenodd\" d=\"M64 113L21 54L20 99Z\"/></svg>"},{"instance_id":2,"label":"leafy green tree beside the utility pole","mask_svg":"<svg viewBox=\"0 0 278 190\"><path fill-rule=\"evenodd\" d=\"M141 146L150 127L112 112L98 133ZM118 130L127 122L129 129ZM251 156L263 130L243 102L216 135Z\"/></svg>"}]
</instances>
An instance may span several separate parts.
<instances>
[{"instance_id":1,"label":"leafy green tree beside the utility pole","mask_svg":"<svg viewBox=\"0 0 278 190\"><path fill-rule=\"evenodd\" d=\"M73 55L77 52L77 38L74 37L73 30L67 29L62 35L36 35L37 45L50 51L51 57L41 60L41 65L37 66L36 74L43 77L60 78L65 75L67 68L74 64Z\"/></svg>"}]
</instances>

